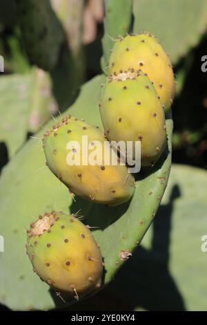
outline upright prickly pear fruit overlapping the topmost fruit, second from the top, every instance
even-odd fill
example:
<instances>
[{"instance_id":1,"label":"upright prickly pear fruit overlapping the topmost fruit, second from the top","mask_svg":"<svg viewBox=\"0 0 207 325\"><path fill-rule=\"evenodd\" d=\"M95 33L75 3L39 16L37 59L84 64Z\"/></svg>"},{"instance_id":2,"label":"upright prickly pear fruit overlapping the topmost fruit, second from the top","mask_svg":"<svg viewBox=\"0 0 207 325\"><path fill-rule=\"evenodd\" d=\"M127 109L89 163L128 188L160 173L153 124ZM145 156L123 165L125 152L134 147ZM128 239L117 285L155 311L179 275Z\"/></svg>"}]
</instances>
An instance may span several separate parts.
<instances>
[{"instance_id":1,"label":"upright prickly pear fruit overlapping the topmost fruit, second from the top","mask_svg":"<svg viewBox=\"0 0 207 325\"><path fill-rule=\"evenodd\" d=\"M103 87L101 120L108 140L141 141L141 165L154 165L166 146L164 109L141 71L109 77Z\"/></svg>"}]
</instances>

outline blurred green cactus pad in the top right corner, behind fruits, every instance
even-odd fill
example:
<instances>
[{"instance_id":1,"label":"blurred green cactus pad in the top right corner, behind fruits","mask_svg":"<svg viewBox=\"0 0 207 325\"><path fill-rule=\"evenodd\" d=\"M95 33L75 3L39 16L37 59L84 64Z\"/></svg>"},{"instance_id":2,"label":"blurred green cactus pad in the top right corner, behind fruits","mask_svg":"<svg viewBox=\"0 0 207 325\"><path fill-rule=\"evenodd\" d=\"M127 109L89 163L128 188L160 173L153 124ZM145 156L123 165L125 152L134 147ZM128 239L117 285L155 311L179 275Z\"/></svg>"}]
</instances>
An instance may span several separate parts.
<instances>
[{"instance_id":1,"label":"blurred green cactus pad in the top right corner, behind fruits","mask_svg":"<svg viewBox=\"0 0 207 325\"><path fill-rule=\"evenodd\" d=\"M156 35L177 64L206 33L206 0L133 1L133 32L145 30Z\"/></svg>"}]
</instances>

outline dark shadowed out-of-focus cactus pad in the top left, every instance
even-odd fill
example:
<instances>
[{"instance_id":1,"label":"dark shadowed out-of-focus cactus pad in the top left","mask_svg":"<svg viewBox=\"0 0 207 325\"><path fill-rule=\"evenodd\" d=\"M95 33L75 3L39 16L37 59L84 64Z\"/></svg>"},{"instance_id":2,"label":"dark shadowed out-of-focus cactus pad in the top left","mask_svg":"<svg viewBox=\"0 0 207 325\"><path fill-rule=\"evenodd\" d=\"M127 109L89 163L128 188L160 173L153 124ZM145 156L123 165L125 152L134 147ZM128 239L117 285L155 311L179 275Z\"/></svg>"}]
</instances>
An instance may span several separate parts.
<instances>
[{"instance_id":1,"label":"dark shadowed out-of-focus cactus pad in the top left","mask_svg":"<svg viewBox=\"0 0 207 325\"><path fill-rule=\"evenodd\" d=\"M17 17L32 64L50 71L63 44L63 30L49 0L17 0Z\"/></svg>"}]
</instances>

